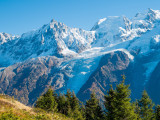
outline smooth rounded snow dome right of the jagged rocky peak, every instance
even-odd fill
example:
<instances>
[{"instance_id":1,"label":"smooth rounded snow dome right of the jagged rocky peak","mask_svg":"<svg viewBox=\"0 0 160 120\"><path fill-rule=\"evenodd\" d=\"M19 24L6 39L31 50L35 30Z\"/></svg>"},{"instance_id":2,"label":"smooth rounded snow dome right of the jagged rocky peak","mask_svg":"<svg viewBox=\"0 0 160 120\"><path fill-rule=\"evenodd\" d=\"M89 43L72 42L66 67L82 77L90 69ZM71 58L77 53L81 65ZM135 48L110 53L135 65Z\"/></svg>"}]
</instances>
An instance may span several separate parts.
<instances>
[{"instance_id":1,"label":"smooth rounded snow dome right of the jagged rocky peak","mask_svg":"<svg viewBox=\"0 0 160 120\"><path fill-rule=\"evenodd\" d=\"M131 30L131 21L125 16L109 16L100 19L91 29L96 32L97 41L93 46L104 47L126 40L124 34Z\"/></svg>"}]
</instances>

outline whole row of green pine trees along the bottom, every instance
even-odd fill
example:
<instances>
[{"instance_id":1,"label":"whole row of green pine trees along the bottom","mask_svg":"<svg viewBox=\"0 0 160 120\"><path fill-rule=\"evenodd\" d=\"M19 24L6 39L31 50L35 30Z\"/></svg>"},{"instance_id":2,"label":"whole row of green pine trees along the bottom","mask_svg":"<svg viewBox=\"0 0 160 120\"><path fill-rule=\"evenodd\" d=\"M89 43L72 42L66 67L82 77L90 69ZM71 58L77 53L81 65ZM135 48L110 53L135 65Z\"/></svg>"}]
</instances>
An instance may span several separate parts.
<instances>
[{"instance_id":1,"label":"whole row of green pine trees along the bottom","mask_svg":"<svg viewBox=\"0 0 160 120\"><path fill-rule=\"evenodd\" d=\"M104 108L93 92L85 104L74 92L57 94L51 88L40 96L35 107L48 112L59 112L75 120L160 120L160 105L155 106L144 90L140 100L131 102L131 90L123 81L113 89L110 86L104 96Z\"/></svg>"}]
</instances>

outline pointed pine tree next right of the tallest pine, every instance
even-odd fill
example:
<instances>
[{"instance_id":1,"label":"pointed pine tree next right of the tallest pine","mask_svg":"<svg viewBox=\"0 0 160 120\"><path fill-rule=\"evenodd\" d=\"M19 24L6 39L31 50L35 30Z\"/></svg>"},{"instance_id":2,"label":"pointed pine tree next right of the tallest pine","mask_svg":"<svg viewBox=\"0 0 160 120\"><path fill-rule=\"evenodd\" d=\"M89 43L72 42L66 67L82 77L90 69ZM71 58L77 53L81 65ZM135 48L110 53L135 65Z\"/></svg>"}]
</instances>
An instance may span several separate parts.
<instances>
[{"instance_id":1,"label":"pointed pine tree next right of the tallest pine","mask_svg":"<svg viewBox=\"0 0 160 120\"><path fill-rule=\"evenodd\" d=\"M142 120L154 119L154 104L145 90L143 91L142 98L139 100L138 105L140 107L140 116Z\"/></svg>"}]
</instances>

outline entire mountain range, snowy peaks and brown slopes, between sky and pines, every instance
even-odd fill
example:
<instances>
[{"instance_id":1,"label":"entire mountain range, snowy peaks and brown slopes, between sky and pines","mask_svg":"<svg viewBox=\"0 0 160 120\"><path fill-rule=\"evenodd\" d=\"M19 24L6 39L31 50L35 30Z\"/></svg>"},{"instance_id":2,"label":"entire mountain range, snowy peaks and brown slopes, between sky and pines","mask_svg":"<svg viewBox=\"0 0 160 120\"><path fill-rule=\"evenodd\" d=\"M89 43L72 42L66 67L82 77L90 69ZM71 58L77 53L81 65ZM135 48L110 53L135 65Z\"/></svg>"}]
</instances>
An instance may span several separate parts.
<instances>
[{"instance_id":1,"label":"entire mountain range, snowy peaks and brown slopes, between sky and pines","mask_svg":"<svg viewBox=\"0 0 160 120\"><path fill-rule=\"evenodd\" d=\"M145 88L160 103L160 11L148 9L133 19L110 16L91 31L51 20L38 30L0 33L0 92L33 104L49 86L74 90L85 101L92 90L103 98L121 74L139 98ZM157 77L154 77L157 76ZM101 99L102 100L102 99Z\"/></svg>"}]
</instances>

